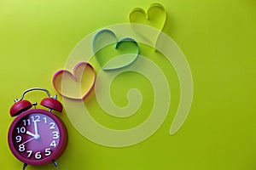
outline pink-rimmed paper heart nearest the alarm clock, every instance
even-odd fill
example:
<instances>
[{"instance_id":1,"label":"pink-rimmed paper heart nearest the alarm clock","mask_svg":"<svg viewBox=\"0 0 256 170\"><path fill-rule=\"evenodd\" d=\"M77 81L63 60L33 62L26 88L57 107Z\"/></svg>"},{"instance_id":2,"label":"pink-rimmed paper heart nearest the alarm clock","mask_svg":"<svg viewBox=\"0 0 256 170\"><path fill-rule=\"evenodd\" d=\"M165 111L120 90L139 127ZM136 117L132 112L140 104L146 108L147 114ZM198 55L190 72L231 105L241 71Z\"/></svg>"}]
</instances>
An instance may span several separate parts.
<instances>
[{"instance_id":1,"label":"pink-rimmed paper heart nearest the alarm clock","mask_svg":"<svg viewBox=\"0 0 256 170\"><path fill-rule=\"evenodd\" d=\"M55 90L69 99L84 99L94 87L96 72L87 62L80 62L73 68L57 71L53 77Z\"/></svg>"}]
</instances>

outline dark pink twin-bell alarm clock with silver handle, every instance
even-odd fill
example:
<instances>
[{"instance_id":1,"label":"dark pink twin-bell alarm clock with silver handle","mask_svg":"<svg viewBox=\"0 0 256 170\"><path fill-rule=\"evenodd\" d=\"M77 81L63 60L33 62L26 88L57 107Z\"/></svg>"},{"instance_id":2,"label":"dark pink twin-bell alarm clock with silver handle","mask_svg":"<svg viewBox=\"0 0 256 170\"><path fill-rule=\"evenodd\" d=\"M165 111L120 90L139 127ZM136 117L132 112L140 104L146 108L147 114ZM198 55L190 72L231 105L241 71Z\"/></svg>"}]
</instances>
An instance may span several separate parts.
<instances>
[{"instance_id":1,"label":"dark pink twin-bell alarm clock with silver handle","mask_svg":"<svg viewBox=\"0 0 256 170\"><path fill-rule=\"evenodd\" d=\"M48 94L41 101L49 110L31 109L37 103L24 99L27 92L40 90ZM14 156L27 165L44 165L57 159L67 147L67 128L51 111L61 112L63 107L57 96L50 96L44 88L30 88L23 92L20 99L15 99L15 105L10 109L11 116L17 116L9 127L9 149Z\"/></svg>"}]
</instances>

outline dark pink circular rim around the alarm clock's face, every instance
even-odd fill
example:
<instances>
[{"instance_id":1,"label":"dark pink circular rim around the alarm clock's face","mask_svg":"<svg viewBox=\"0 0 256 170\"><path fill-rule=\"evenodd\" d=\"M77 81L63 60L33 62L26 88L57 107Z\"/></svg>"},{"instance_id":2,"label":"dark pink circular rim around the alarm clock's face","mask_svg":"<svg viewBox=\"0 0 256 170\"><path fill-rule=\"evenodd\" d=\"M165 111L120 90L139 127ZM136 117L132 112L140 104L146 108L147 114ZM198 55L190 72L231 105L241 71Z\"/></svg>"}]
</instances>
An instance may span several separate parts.
<instances>
[{"instance_id":1,"label":"dark pink circular rim around the alarm clock's face","mask_svg":"<svg viewBox=\"0 0 256 170\"><path fill-rule=\"evenodd\" d=\"M56 125L58 126L59 133L60 133L59 144L56 147L54 153L52 155L45 157L44 159L40 159L40 160L29 160L26 157L20 156L19 152L17 150L15 150L15 145L14 145L14 142L12 139L12 136L13 136L12 134L15 130L16 124L18 122L20 122L23 117L34 114L34 113L40 113L40 114L43 114L43 115L46 115L46 116L49 116L50 118L52 118L54 120L54 122L56 123ZM61 119L59 117L55 116L53 113L51 113L49 111L45 111L43 109L31 109L31 110L22 112L11 123L11 125L9 127L9 133L8 133L8 143L9 143L9 149L11 150L13 155L18 160L20 160L26 164L29 164L29 165L44 165L44 164L47 164L47 163L57 159L59 156L61 156L61 154L64 152L64 150L66 150L66 148L67 148L67 127L61 121Z\"/></svg>"}]
</instances>

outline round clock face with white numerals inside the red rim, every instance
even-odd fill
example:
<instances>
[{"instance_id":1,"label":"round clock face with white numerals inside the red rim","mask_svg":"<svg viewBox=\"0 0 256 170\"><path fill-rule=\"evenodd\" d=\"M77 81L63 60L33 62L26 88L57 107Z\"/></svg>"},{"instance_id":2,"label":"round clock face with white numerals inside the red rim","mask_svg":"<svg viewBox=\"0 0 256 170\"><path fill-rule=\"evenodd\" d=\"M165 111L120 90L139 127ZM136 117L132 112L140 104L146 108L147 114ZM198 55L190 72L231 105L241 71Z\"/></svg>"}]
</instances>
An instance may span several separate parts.
<instances>
[{"instance_id":1,"label":"round clock face with white numerals inside the red rim","mask_svg":"<svg viewBox=\"0 0 256 170\"><path fill-rule=\"evenodd\" d=\"M16 124L12 139L20 156L40 160L54 153L60 141L60 131L51 117L33 113Z\"/></svg>"}]
</instances>

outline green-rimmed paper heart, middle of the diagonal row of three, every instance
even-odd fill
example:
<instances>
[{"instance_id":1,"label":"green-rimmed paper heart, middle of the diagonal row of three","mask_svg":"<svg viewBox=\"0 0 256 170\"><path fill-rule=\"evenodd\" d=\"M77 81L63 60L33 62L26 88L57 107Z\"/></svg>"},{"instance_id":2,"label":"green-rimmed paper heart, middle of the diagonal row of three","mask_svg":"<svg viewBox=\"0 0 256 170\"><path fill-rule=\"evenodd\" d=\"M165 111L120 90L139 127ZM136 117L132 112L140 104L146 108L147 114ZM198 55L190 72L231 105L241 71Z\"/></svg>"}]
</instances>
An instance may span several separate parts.
<instances>
[{"instance_id":1,"label":"green-rimmed paper heart, middle of the diagonal row of three","mask_svg":"<svg viewBox=\"0 0 256 170\"><path fill-rule=\"evenodd\" d=\"M94 55L102 70L114 70L131 65L139 54L137 42L125 37L120 41L110 30L102 30L96 33L92 42Z\"/></svg>"}]
</instances>

